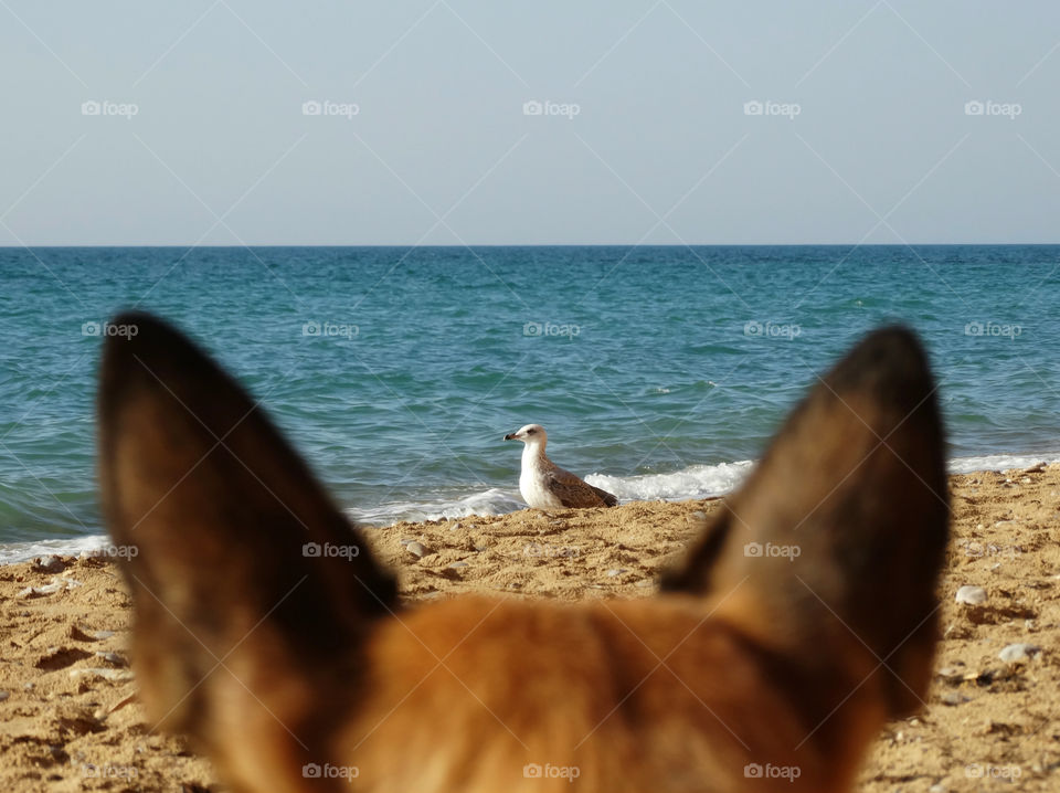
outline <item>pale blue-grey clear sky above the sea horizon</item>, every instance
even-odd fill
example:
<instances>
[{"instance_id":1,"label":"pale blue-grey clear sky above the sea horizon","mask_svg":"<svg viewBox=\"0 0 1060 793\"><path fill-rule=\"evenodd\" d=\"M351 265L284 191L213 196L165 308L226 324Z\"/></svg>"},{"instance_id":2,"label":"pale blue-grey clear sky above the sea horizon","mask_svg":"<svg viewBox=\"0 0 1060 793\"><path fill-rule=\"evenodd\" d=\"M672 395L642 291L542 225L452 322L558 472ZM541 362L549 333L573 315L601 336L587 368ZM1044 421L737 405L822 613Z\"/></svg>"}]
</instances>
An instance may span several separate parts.
<instances>
[{"instance_id":1,"label":"pale blue-grey clear sky above the sea horizon","mask_svg":"<svg viewBox=\"0 0 1060 793\"><path fill-rule=\"evenodd\" d=\"M1043 1L0 0L0 245L1058 242L1058 44Z\"/></svg>"}]
</instances>

